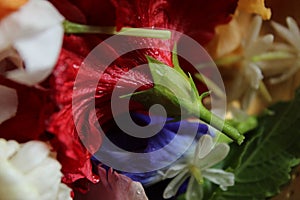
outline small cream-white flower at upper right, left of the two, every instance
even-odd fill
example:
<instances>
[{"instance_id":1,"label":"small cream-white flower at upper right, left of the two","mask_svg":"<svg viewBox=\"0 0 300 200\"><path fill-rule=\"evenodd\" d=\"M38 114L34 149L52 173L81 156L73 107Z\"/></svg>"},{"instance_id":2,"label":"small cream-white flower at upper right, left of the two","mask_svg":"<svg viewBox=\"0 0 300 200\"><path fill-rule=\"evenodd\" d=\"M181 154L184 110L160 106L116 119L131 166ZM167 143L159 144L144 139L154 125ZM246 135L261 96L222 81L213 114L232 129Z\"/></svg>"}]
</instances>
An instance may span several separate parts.
<instances>
[{"instance_id":1,"label":"small cream-white flower at upper right, left of the two","mask_svg":"<svg viewBox=\"0 0 300 200\"><path fill-rule=\"evenodd\" d=\"M240 72L235 77L232 88L228 90L231 99L241 99L243 110L248 109L264 78L260 68L261 62L257 62L255 59L258 55L268 52L274 40L272 34L260 36L261 27L262 18L255 16L249 25L248 34L241 44Z\"/></svg>"}]
</instances>

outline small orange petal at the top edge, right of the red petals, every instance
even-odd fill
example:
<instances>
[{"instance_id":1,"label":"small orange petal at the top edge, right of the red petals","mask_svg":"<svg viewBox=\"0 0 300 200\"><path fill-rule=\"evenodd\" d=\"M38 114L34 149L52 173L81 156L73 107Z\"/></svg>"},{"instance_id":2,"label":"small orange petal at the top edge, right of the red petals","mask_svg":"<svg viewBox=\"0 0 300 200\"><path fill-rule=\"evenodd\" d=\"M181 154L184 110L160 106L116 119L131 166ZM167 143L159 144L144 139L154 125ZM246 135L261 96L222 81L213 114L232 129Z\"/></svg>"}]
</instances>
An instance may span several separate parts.
<instances>
[{"instance_id":1,"label":"small orange petal at the top edge, right of the red petals","mask_svg":"<svg viewBox=\"0 0 300 200\"><path fill-rule=\"evenodd\" d=\"M259 14L264 20L271 18L271 9L265 7L264 0L239 0L238 9Z\"/></svg>"}]
</instances>

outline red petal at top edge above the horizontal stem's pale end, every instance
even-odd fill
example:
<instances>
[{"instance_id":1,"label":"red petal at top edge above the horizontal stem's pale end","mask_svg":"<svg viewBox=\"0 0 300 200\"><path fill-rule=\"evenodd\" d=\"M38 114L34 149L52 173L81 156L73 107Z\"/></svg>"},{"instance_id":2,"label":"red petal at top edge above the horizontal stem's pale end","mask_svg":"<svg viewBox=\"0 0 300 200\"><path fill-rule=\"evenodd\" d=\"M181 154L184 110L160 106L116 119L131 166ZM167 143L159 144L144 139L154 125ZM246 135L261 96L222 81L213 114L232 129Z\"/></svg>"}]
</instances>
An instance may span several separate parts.
<instances>
[{"instance_id":1,"label":"red petal at top edge above the horizontal stem's pale end","mask_svg":"<svg viewBox=\"0 0 300 200\"><path fill-rule=\"evenodd\" d=\"M227 23L237 0L112 0L118 29L129 27L168 28L186 33L204 45L212 39L214 28Z\"/></svg>"}]
</instances>

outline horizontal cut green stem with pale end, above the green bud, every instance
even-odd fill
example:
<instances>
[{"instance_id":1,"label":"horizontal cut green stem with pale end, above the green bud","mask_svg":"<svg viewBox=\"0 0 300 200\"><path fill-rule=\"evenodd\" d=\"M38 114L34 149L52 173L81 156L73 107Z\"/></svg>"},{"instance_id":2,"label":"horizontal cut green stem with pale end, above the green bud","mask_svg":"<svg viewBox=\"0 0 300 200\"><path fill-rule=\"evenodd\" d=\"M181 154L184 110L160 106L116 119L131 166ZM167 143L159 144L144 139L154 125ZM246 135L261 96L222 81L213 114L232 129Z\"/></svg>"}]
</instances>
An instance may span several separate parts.
<instances>
[{"instance_id":1,"label":"horizontal cut green stem with pale end, above the green bud","mask_svg":"<svg viewBox=\"0 0 300 200\"><path fill-rule=\"evenodd\" d=\"M168 30L156 30L146 28L126 28L123 27L117 31L115 26L89 26L84 24L77 24L65 20L63 22L65 33L73 34L108 34L108 35L127 35L136 37L170 39L171 32Z\"/></svg>"}]
</instances>

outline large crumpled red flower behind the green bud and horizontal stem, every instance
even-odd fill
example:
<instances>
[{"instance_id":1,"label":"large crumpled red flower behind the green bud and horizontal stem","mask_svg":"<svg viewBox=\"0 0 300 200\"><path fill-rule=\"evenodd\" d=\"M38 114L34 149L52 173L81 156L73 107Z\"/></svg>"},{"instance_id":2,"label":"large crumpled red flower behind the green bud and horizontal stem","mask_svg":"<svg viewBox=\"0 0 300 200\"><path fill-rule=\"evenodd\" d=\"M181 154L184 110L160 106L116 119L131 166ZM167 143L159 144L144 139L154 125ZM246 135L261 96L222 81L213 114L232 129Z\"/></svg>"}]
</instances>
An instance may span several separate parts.
<instances>
[{"instance_id":1,"label":"large crumpled red flower behind the green bud and horizontal stem","mask_svg":"<svg viewBox=\"0 0 300 200\"><path fill-rule=\"evenodd\" d=\"M58 1L51 2L71 21L92 25L117 25L131 27L159 27L175 29L194 37L201 44L207 43L217 24L230 20L237 0L223 1ZM137 65L147 63L146 55L152 56L163 63L172 66L170 52L160 51L156 47L165 46L172 49L174 42L144 39L143 42L153 48L128 53L105 69L101 77L96 77L92 67L83 68L83 77L79 80L83 90L74 90L74 81L78 68L85 56L107 36L66 36L63 50L51 78L53 98L58 111L51 118L48 131L54 134L52 144L58 151L58 159L62 163L64 181L72 183L81 178L93 178L90 156L100 144L100 132L96 128L98 123L105 128L111 126L111 94L115 85L119 83L124 94L136 84L140 89L152 87L151 76L142 72L131 72ZM175 38L176 39L176 38ZM175 40L176 41L176 40ZM134 41L130 41L134 42ZM109 48L108 48L109 49ZM108 50L107 56L116 55L113 49ZM118 55L117 55L118 56ZM88 65L88 64L87 64ZM99 61L101 65L101 61ZM99 68L101 71L101 69ZM97 88L90 80L99 80ZM81 81L81 82L80 82ZM95 93L96 89L96 93ZM72 96L76 96L76 106L72 107ZM95 107L90 104L95 98ZM91 113L96 109L97 119ZM136 104L131 109L140 109ZM119 110L122 113L122 110ZM75 116L72 114L74 113ZM77 120L74 122L74 119ZM76 127L80 131L76 130ZM82 132L87 133L82 135ZM78 135L78 134L81 135ZM91 144L88 149L83 147L80 138Z\"/></svg>"}]
</instances>

